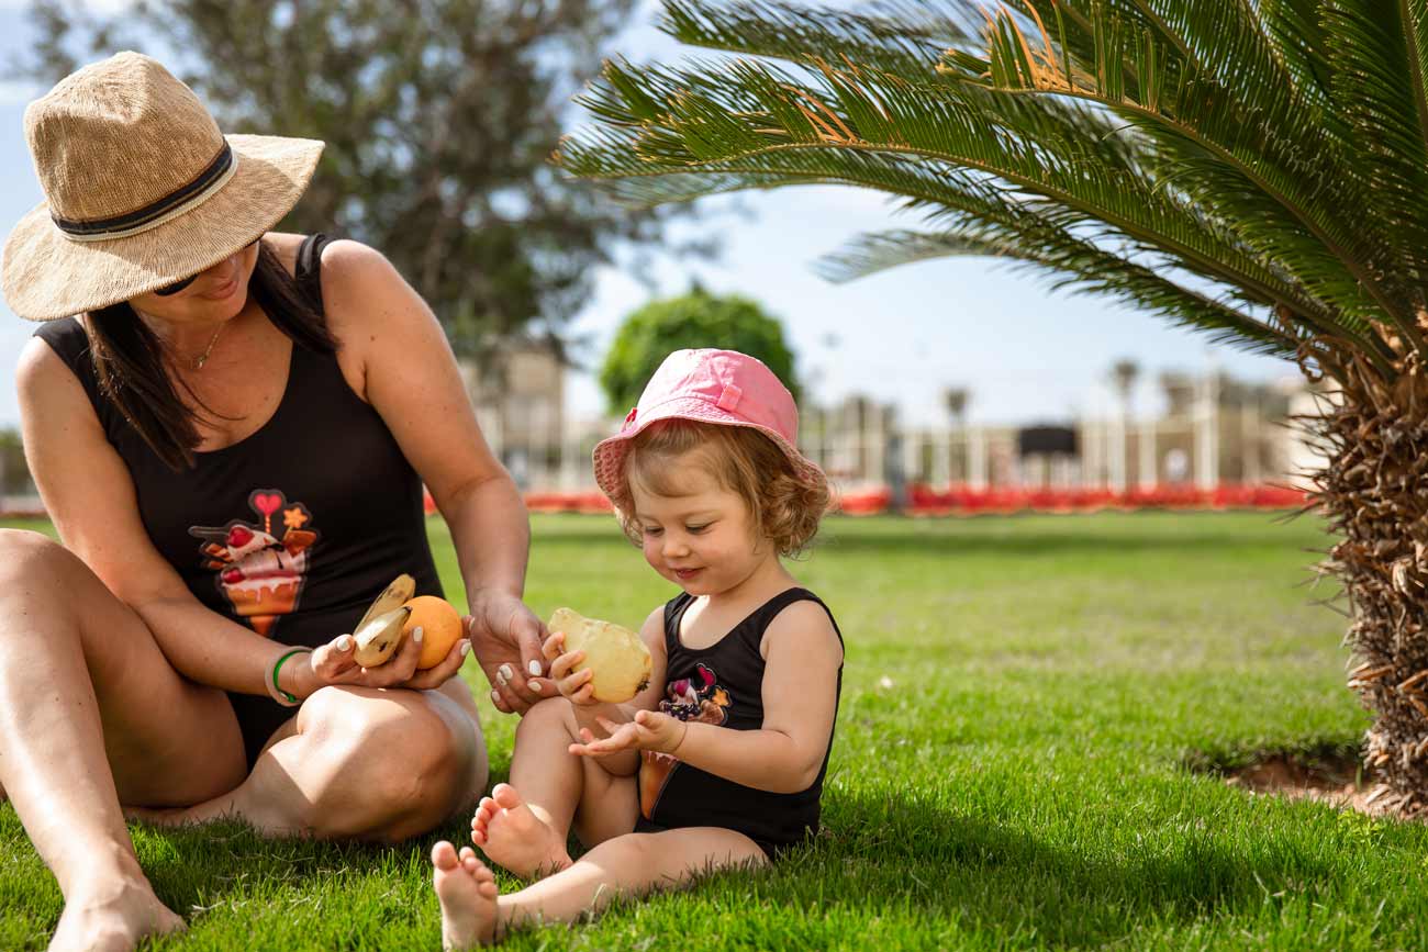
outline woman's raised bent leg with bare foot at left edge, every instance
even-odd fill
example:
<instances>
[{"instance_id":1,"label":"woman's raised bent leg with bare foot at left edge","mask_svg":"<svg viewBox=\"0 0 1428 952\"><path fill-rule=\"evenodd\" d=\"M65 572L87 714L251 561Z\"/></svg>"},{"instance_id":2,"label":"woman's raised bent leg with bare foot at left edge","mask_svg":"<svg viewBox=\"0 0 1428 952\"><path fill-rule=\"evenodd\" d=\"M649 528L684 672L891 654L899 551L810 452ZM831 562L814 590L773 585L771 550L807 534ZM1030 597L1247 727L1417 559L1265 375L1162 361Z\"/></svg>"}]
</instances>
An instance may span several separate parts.
<instances>
[{"instance_id":1,"label":"woman's raised bent leg with bare foot at left edge","mask_svg":"<svg viewBox=\"0 0 1428 952\"><path fill-rule=\"evenodd\" d=\"M178 677L73 554L0 530L0 786L64 893L53 949L181 928L139 868L120 799L191 802L243 771L220 691Z\"/></svg>"}]
</instances>

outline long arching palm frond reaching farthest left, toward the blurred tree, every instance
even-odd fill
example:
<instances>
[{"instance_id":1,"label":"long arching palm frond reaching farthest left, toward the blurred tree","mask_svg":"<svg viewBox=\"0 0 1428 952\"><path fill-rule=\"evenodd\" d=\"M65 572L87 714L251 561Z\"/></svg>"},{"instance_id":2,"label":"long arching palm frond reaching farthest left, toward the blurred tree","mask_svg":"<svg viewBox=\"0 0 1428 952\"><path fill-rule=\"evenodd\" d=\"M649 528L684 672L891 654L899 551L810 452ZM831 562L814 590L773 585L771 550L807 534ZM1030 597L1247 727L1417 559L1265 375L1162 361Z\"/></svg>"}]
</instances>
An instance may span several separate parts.
<instances>
[{"instance_id":1,"label":"long arching palm frond reaching farthest left, toward the blurred tree","mask_svg":"<svg viewBox=\"0 0 1428 952\"><path fill-rule=\"evenodd\" d=\"M1312 333L1385 353L1368 324L1327 307L1292 277L1259 265L1224 234L1188 217L1171 193L1134 168L1114 164L1131 153L1110 144L1111 137L1062 138L1068 128L1084 131L1095 121L1104 130L1114 128L1105 117L1087 114L1075 121L1028 100L1008 101L977 88L917 87L900 77L831 67L818 87L800 86L767 64L747 61L703 69L698 93L691 79L663 67L640 71L610 64L595 108L608 113L608 97L625 90L627 101L663 103L665 111L638 127L607 126L593 138L567 140L560 161L587 177L665 176L695 167L705 174L740 171L761 177L758 187L767 187L770 171L790 167L818 180L840 177L844 167L830 154L840 151L915 157L912 161L935 163L930 167L937 174L971 168L1052 198L1068 220L1114 228L1141 247L1165 250L1185 270L1247 288L1254 300L1285 303ZM710 87L718 91L711 94ZM988 113L991 104L1004 108ZM1038 137L1008 134L1008 121L1032 124ZM790 156L804 150L823 156ZM915 184L938 194L935 183ZM725 187L721 178L720 188ZM942 200L955 204L961 198L944 194Z\"/></svg>"}]
</instances>

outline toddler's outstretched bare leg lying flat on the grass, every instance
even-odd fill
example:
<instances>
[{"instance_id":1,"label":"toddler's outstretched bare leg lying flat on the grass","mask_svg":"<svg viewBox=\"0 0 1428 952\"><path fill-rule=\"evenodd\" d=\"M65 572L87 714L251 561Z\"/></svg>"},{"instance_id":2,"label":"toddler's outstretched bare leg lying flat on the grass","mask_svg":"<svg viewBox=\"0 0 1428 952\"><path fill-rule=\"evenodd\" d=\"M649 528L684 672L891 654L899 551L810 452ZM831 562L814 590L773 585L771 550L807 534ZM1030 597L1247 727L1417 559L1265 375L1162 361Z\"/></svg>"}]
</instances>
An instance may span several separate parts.
<instances>
[{"instance_id":1,"label":"toddler's outstretched bare leg lying flat on the grass","mask_svg":"<svg viewBox=\"0 0 1428 952\"><path fill-rule=\"evenodd\" d=\"M691 826L628 834L605 841L553 876L497 896L496 881L476 854L463 849L458 855L443 841L431 849L433 886L441 903L441 945L444 949L490 945L523 925L574 922L617 898L677 889L704 872L767 862L753 839L731 829Z\"/></svg>"}]
</instances>

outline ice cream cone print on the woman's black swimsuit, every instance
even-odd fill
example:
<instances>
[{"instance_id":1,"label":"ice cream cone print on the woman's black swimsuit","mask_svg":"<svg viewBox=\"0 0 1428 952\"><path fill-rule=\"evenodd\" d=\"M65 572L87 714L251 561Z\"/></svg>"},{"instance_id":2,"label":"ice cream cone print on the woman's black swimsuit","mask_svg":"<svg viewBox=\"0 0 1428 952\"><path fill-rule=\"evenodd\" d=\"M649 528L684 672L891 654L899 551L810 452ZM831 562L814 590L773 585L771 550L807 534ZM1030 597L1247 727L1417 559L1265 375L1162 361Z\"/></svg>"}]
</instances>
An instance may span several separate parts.
<instances>
[{"instance_id":1,"label":"ice cream cone print on the woman's black swimsuit","mask_svg":"<svg viewBox=\"0 0 1428 952\"><path fill-rule=\"evenodd\" d=\"M268 635L281 615L297 608L318 532L303 528L313 515L301 502L288 504L281 490L254 490L248 507L263 518L261 525L233 520L221 528L194 525L188 534L203 540L203 567L218 574L216 584L233 611ZM281 537L274 520L281 522Z\"/></svg>"}]
</instances>

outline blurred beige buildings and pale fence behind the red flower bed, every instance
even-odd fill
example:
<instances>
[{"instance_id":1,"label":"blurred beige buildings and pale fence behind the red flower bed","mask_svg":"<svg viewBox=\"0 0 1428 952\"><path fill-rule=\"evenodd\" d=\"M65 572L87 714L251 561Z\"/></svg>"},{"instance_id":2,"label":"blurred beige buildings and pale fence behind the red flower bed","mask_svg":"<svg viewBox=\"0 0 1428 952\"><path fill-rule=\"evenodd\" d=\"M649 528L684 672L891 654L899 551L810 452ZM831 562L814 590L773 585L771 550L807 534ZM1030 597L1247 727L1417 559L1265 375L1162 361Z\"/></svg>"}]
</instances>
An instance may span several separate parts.
<instances>
[{"instance_id":1,"label":"blurred beige buildings and pale fence behind the red flower bed","mask_svg":"<svg viewBox=\"0 0 1428 952\"><path fill-rule=\"evenodd\" d=\"M590 451L618 420L563 411L565 371L541 344L510 353L503 377L468 387L487 440L517 482L533 491L594 488ZM1312 414L1299 378L1244 383L1225 374L1168 373L1164 407L1024 425L968 425L974 394L950 390L941 425L900 422L900 408L865 395L800 408L800 448L840 487L898 482L934 488L1292 484L1314 464L1294 415Z\"/></svg>"}]
</instances>

